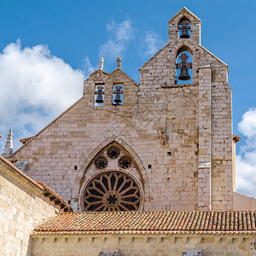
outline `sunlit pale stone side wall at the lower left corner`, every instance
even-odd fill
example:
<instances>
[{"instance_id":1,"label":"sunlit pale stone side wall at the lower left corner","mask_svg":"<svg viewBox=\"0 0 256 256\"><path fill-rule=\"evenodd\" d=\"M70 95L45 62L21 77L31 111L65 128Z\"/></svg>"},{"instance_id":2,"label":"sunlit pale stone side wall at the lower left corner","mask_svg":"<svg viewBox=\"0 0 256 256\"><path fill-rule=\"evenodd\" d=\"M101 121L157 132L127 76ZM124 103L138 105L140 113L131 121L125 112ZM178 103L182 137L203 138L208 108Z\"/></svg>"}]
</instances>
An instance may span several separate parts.
<instances>
[{"instance_id":1,"label":"sunlit pale stone side wall at the lower left corner","mask_svg":"<svg viewBox=\"0 0 256 256\"><path fill-rule=\"evenodd\" d=\"M0 160L1 161L1 160ZM33 183L0 165L0 254L26 255L32 230L55 215Z\"/></svg>"}]
</instances>

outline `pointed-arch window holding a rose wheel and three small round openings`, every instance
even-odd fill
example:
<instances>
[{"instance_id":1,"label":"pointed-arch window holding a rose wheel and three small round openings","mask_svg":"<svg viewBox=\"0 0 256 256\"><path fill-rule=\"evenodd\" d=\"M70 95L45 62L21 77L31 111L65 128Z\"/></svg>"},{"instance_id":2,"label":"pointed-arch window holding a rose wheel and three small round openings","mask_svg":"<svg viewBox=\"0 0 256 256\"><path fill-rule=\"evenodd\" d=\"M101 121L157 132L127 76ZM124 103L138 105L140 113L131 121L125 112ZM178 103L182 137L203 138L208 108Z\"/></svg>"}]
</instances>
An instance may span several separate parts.
<instances>
[{"instance_id":1,"label":"pointed-arch window holding a rose wheel and three small round openings","mask_svg":"<svg viewBox=\"0 0 256 256\"><path fill-rule=\"evenodd\" d=\"M131 154L110 143L84 172L80 209L85 212L138 211L143 207L143 177Z\"/></svg>"}]
</instances>

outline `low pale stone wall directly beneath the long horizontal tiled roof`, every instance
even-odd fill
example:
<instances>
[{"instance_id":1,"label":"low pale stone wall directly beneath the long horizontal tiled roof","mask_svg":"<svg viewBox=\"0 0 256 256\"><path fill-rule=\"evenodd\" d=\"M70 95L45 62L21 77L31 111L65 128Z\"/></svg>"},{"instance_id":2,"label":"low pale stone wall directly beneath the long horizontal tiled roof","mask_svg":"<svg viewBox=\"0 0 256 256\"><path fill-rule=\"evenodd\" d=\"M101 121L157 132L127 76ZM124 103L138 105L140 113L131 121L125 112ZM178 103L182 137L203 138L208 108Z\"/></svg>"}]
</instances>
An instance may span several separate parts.
<instances>
[{"instance_id":1,"label":"low pale stone wall directly beneath the long horizontal tiled roof","mask_svg":"<svg viewBox=\"0 0 256 256\"><path fill-rule=\"evenodd\" d=\"M97 256L119 249L119 256L182 256L185 252L188 256L255 256L254 242L255 237L242 235L32 236L32 252L34 256Z\"/></svg>"}]
</instances>

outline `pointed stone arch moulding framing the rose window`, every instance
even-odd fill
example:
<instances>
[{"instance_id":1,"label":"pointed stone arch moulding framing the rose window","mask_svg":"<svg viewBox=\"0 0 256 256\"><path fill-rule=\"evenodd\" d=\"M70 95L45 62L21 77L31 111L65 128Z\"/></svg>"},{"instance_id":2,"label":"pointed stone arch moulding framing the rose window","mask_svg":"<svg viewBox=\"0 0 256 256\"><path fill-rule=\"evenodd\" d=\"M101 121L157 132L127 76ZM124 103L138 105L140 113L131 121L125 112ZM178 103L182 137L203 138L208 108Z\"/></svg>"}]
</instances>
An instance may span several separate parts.
<instances>
[{"instance_id":1,"label":"pointed stone arch moulding framing the rose window","mask_svg":"<svg viewBox=\"0 0 256 256\"><path fill-rule=\"evenodd\" d=\"M107 148L108 145L110 145L112 143L116 143L117 145L119 145L119 147L124 148L124 150L127 151L127 153L131 155L132 159L134 160L134 162L137 165L137 170L142 177L142 181L139 183L143 187L143 200L145 198L149 197L148 175L147 175L145 167L143 166L142 160L140 160L137 153L127 143L125 143L124 140L122 140L119 137L113 136L113 137L108 138L108 140L106 140L104 143L101 143L97 148L95 148L90 153L90 155L88 157L86 157L86 160L84 160L84 164L81 166L79 174L74 183L73 198L80 197L80 194L82 193L83 186L84 186L84 175L87 171L88 166L90 166L90 163L92 162L92 160L95 159L96 155L99 154L102 151L102 149ZM141 209L142 208L143 207L141 207Z\"/></svg>"}]
</instances>

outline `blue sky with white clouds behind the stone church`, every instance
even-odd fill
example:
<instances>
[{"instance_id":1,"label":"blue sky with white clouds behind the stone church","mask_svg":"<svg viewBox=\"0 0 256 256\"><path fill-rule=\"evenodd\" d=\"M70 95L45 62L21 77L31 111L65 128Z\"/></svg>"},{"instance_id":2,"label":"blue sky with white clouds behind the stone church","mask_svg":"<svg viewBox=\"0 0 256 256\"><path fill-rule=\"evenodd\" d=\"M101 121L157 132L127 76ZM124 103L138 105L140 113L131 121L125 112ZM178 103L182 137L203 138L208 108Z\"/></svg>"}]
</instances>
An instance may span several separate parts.
<instances>
[{"instance_id":1,"label":"blue sky with white clouds behind the stone church","mask_svg":"<svg viewBox=\"0 0 256 256\"><path fill-rule=\"evenodd\" d=\"M104 70L112 72L120 55L123 70L139 82L138 68L167 43L167 22L183 6L201 19L201 44L229 65L234 133L242 138L237 153L244 165L250 161L251 175L255 1L1 1L1 151L9 127L17 149L21 137L32 136L82 96L83 79L101 56Z\"/></svg>"}]
</instances>

